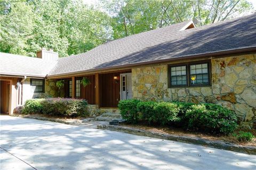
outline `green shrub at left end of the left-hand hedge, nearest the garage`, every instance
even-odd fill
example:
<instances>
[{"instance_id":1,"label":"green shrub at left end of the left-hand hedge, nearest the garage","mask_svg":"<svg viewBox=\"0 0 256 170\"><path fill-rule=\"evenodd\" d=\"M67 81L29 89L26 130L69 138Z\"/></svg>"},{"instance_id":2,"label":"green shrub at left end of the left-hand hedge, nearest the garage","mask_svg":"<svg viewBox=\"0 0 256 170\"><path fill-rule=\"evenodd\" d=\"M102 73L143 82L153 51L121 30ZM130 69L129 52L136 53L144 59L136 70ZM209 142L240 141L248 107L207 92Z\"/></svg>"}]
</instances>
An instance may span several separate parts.
<instances>
[{"instance_id":1,"label":"green shrub at left end of the left-hand hedge, nearest the garage","mask_svg":"<svg viewBox=\"0 0 256 170\"><path fill-rule=\"evenodd\" d=\"M22 114L36 114L41 113L43 107L41 102L45 99L29 99L25 102L25 105L22 109Z\"/></svg>"}]
</instances>

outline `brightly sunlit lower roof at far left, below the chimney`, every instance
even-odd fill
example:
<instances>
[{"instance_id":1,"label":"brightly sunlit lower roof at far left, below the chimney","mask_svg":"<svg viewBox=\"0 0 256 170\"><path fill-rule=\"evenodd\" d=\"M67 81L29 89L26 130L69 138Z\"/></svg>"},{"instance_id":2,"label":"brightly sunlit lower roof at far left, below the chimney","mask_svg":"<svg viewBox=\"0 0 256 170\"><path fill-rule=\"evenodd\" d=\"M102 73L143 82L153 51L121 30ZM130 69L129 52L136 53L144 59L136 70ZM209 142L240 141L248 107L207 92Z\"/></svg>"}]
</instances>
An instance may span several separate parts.
<instances>
[{"instance_id":1,"label":"brightly sunlit lower roof at far left, below the chimney","mask_svg":"<svg viewBox=\"0 0 256 170\"><path fill-rule=\"evenodd\" d=\"M0 53L0 73L2 75L44 78L55 64L57 62L42 60L42 58Z\"/></svg>"}]
</instances>

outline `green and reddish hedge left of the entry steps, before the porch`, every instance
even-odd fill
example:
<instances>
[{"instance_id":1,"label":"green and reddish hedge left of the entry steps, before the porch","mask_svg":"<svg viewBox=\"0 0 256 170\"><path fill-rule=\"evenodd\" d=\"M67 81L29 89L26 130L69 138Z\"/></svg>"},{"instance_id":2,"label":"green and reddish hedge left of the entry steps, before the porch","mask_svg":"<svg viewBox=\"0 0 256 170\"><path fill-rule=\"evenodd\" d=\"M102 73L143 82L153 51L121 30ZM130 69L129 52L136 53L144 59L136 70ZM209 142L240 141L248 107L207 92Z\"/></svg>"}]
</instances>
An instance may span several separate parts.
<instances>
[{"instance_id":1,"label":"green and reddish hedge left of the entry steps, before the porch","mask_svg":"<svg viewBox=\"0 0 256 170\"><path fill-rule=\"evenodd\" d=\"M22 114L46 114L53 116L87 116L87 101L69 98L29 99L26 101Z\"/></svg>"}]
</instances>

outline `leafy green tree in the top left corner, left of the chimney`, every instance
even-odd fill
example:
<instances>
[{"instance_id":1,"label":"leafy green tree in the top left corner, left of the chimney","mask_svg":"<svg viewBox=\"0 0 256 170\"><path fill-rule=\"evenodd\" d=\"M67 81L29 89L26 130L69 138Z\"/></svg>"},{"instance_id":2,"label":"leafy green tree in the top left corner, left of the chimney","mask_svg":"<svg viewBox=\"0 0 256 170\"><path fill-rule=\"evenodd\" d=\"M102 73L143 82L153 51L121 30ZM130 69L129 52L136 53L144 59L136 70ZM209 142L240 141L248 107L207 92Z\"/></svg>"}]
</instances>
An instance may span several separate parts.
<instances>
[{"instance_id":1,"label":"leafy green tree in the top left corner, left of the chimney","mask_svg":"<svg viewBox=\"0 0 256 170\"><path fill-rule=\"evenodd\" d=\"M35 15L31 6L24 2L10 4L7 1L2 1L0 6L1 52L27 55L27 40L33 36L35 26Z\"/></svg>"}]
</instances>

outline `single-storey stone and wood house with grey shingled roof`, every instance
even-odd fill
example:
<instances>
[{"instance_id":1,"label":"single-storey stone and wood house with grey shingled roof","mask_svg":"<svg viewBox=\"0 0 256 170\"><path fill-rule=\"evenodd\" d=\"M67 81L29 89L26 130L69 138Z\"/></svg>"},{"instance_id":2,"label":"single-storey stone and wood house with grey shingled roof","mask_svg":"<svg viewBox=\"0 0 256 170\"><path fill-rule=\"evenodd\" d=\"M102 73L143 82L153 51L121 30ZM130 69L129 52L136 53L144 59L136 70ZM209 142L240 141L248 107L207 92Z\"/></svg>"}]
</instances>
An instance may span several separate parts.
<instances>
[{"instance_id":1,"label":"single-storey stone and wood house with grey shingled roof","mask_svg":"<svg viewBox=\"0 0 256 170\"><path fill-rule=\"evenodd\" d=\"M101 108L129 98L208 102L234 110L255 128L255 28L252 14L202 27L182 22L63 58L46 49L37 58L0 53L1 112L12 114L42 93ZM91 84L83 87L83 77ZM60 79L65 87L58 90Z\"/></svg>"}]
</instances>

